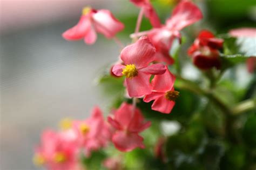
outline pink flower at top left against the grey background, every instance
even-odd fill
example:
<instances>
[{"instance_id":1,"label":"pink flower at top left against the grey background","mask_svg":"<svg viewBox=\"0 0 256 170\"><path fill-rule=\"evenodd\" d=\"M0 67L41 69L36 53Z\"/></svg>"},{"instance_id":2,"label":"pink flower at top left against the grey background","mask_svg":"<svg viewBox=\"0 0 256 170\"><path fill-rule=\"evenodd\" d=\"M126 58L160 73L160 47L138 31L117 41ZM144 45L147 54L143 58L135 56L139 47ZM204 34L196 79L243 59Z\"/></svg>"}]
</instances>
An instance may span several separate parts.
<instances>
[{"instance_id":1,"label":"pink flower at top left against the grey background","mask_svg":"<svg viewBox=\"0 0 256 170\"><path fill-rule=\"evenodd\" d=\"M96 32L102 33L106 38L113 38L123 29L123 23L114 18L109 10L86 7L77 25L65 31L62 36L66 40L84 38L86 44L94 44L97 39Z\"/></svg>"}]
</instances>

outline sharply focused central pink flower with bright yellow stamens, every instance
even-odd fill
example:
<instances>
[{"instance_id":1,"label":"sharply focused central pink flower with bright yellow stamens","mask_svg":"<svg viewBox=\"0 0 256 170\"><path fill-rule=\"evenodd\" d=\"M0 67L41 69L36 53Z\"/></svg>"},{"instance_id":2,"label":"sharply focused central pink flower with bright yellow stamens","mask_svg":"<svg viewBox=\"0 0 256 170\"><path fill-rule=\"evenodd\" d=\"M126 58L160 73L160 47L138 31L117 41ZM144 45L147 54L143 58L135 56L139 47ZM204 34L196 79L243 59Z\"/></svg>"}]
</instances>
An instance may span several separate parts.
<instances>
[{"instance_id":1,"label":"sharply focused central pink flower with bright yellow stamens","mask_svg":"<svg viewBox=\"0 0 256 170\"><path fill-rule=\"evenodd\" d=\"M145 36L122 50L120 58L124 65L114 65L112 72L116 76L126 76L125 84L130 97L142 97L151 93L151 74L165 72L163 64L149 65L153 62L155 53L156 49Z\"/></svg>"}]
</instances>

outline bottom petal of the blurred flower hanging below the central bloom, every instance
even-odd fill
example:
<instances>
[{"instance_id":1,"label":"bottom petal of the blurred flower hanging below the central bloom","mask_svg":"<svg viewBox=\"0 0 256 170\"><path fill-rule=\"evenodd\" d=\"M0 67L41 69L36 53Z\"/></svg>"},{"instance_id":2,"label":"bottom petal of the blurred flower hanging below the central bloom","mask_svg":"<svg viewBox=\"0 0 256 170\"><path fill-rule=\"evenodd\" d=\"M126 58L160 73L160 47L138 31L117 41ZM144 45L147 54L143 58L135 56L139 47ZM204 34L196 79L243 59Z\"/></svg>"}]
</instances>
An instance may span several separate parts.
<instances>
[{"instance_id":1,"label":"bottom petal of the blurred flower hanging below the central bloom","mask_svg":"<svg viewBox=\"0 0 256 170\"><path fill-rule=\"evenodd\" d=\"M112 142L119 151L123 152L132 151L136 147L145 148L143 138L137 133L117 131L112 137Z\"/></svg>"}]
</instances>

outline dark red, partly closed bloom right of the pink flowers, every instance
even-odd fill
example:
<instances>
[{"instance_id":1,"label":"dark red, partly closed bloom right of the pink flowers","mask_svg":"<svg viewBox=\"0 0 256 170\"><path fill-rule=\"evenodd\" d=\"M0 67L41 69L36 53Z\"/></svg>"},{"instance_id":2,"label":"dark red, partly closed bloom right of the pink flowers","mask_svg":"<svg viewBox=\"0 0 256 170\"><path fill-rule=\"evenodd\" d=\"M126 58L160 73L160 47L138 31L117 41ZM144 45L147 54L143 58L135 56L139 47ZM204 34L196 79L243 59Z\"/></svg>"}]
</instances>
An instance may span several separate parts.
<instances>
[{"instance_id":1,"label":"dark red, partly closed bloom right of the pink flowers","mask_svg":"<svg viewBox=\"0 0 256 170\"><path fill-rule=\"evenodd\" d=\"M223 47L223 42L223 39L215 38L210 31L202 30L187 53L199 69L207 70L212 67L220 69L218 50Z\"/></svg>"}]
</instances>

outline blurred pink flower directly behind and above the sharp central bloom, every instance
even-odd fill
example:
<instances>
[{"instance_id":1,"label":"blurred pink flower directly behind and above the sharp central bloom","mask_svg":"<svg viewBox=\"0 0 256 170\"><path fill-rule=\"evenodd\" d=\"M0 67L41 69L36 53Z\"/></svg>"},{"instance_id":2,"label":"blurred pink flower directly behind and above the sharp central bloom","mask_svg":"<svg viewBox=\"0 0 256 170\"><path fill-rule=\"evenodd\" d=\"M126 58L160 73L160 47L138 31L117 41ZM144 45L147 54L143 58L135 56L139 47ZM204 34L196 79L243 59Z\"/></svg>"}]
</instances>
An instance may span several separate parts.
<instances>
[{"instance_id":1,"label":"blurred pink flower directly behind and above the sharp central bloom","mask_svg":"<svg viewBox=\"0 0 256 170\"><path fill-rule=\"evenodd\" d=\"M134 36L149 36L152 44L156 47L156 61L173 64L174 60L169 54L172 42L175 38L181 41L180 30L188 25L196 23L203 15L200 9L190 1L181 1L172 12L172 16L167 19L165 25L160 28L153 28L149 31L134 33Z\"/></svg>"}]
</instances>

